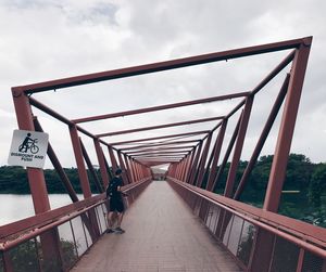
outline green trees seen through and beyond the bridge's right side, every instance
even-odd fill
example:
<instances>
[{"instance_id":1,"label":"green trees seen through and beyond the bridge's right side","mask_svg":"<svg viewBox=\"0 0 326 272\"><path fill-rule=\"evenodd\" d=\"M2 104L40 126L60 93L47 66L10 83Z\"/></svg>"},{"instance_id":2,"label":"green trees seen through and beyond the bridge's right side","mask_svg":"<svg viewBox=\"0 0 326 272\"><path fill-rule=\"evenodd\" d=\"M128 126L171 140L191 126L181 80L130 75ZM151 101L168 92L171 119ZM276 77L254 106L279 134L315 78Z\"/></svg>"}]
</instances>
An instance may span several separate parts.
<instances>
[{"instance_id":1,"label":"green trees seen through and beyond the bridge's right side","mask_svg":"<svg viewBox=\"0 0 326 272\"><path fill-rule=\"evenodd\" d=\"M241 194L241 202L263 206L272 163L273 155L259 158ZM247 165L248 161L239 163L235 189ZM217 182L214 191L217 194L223 194L229 166L229 163L225 166ZM205 182L206 177L203 184ZM326 164L313 164L304 155L290 154L278 212L326 228Z\"/></svg>"}]
</instances>

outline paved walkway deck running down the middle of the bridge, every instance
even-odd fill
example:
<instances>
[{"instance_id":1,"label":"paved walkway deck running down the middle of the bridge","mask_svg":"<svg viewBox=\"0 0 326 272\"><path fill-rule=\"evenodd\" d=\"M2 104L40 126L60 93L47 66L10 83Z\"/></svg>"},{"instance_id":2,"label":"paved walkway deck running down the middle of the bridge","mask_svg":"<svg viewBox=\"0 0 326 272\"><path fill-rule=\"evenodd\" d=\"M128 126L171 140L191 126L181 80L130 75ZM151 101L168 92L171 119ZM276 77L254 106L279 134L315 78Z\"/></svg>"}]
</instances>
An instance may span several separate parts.
<instances>
[{"instance_id":1,"label":"paved walkway deck running down the middle of the bridge","mask_svg":"<svg viewBox=\"0 0 326 272\"><path fill-rule=\"evenodd\" d=\"M72 271L242 271L164 181L127 210L124 234L104 234Z\"/></svg>"}]
</instances>

